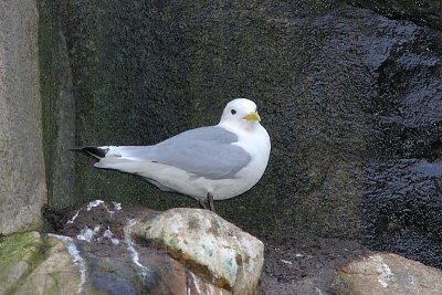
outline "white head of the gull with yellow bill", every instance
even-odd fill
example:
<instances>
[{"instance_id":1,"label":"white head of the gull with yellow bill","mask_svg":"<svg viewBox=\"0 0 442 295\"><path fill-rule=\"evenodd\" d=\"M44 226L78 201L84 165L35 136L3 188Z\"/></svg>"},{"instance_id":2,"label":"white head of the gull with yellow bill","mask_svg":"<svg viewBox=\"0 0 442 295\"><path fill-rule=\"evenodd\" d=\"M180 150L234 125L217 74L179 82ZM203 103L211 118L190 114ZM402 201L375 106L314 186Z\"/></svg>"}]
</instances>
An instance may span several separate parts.
<instances>
[{"instance_id":1,"label":"white head of the gull with yellow bill","mask_svg":"<svg viewBox=\"0 0 442 295\"><path fill-rule=\"evenodd\" d=\"M248 98L236 98L224 107L220 125L253 129L255 125L260 125L260 120L255 103Z\"/></svg>"}]
</instances>

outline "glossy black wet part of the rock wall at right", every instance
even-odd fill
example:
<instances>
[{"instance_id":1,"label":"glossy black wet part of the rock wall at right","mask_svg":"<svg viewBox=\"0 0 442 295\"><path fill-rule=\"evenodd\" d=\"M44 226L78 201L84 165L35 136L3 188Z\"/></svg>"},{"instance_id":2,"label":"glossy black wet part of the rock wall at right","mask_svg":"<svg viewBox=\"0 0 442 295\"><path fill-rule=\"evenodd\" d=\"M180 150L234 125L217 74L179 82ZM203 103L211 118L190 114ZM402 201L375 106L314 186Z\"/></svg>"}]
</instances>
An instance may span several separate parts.
<instances>
[{"instance_id":1,"label":"glossy black wet part of the rock wall at right","mask_svg":"<svg viewBox=\"0 0 442 295\"><path fill-rule=\"evenodd\" d=\"M364 240L442 267L442 39L410 32L378 67Z\"/></svg>"}]
</instances>

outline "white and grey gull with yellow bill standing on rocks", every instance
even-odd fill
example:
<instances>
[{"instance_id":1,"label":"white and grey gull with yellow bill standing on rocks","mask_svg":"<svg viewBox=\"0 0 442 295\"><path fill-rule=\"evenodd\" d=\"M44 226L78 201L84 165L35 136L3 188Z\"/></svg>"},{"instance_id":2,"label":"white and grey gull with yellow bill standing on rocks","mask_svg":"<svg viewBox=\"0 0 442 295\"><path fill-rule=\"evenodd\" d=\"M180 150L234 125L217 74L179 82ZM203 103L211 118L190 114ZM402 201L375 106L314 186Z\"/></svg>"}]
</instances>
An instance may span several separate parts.
<instances>
[{"instance_id":1,"label":"white and grey gull with yellow bill standing on rocks","mask_svg":"<svg viewBox=\"0 0 442 295\"><path fill-rule=\"evenodd\" d=\"M271 150L256 104L236 98L220 123L190 129L152 146L78 146L96 168L140 176L164 191L190 196L214 211L213 200L250 190L263 176Z\"/></svg>"}]
</instances>

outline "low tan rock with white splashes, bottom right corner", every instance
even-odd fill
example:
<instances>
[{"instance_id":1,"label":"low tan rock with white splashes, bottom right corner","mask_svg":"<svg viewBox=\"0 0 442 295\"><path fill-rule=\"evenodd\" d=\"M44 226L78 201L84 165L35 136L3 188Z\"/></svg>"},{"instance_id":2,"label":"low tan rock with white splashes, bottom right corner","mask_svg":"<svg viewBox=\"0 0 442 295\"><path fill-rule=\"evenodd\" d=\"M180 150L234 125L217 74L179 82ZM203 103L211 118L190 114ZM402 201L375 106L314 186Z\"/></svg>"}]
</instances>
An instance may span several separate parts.
<instances>
[{"instance_id":1,"label":"low tan rock with white splashes, bottom right corner","mask_svg":"<svg viewBox=\"0 0 442 295\"><path fill-rule=\"evenodd\" d=\"M378 253L339 267L336 294L442 294L442 271L396 254Z\"/></svg>"}]
</instances>

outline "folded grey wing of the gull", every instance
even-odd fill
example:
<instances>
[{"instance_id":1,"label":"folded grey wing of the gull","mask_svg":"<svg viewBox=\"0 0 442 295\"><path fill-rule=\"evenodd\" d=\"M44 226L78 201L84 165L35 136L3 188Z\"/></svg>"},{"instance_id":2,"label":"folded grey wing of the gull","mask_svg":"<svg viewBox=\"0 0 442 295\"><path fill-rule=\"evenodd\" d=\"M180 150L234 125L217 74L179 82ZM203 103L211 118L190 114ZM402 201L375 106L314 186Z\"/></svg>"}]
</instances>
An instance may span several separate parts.
<instances>
[{"instance_id":1,"label":"folded grey wing of the gull","mask_svg":"<svg viewBox=\"0 0 442 295\"><path fill-rule=\"evenodd\" d=\"M232 145L235 141L238 136L222 127L202 127L155 146L127 147L122 156L173 166L208 179L231 179L251 160L249 152Z\"/></svg>"}]
</instances>

